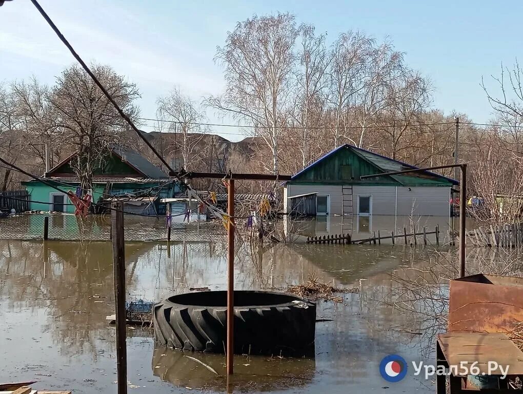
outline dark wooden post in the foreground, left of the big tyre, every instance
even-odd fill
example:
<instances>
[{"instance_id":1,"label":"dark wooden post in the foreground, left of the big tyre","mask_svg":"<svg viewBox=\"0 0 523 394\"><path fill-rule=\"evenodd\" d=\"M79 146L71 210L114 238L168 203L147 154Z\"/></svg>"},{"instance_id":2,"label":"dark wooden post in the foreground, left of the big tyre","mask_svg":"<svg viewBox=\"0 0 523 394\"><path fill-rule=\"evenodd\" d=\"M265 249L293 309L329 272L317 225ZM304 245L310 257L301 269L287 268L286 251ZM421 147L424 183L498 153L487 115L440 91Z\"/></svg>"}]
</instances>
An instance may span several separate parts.
<instances>
[{"instance_id":1,"label":"dark wooden post in the foreground, left of the big tyre","mask_svg":"<svg viewBox=\"0 0 523 394\"><path fill-rule=\"evenodd\" d=\"M115 284L116 369L118 394L127 393L126 261L123 240L123 203L112 204L112 267Z\"/></svg>"}]
</instances>

